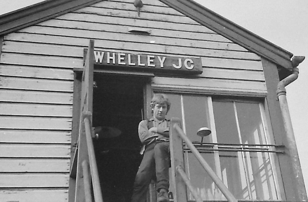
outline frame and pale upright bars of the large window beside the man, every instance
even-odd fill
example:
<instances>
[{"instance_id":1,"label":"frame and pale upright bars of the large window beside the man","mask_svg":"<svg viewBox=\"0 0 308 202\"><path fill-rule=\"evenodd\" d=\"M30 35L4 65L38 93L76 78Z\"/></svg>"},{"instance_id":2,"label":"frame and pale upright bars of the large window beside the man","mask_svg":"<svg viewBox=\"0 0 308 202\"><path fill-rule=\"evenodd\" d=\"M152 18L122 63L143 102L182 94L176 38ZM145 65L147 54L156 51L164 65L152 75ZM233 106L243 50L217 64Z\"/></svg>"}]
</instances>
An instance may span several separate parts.
<instances>
[{"instance_id":1,"label":"frame and pale upright bars of the large window beside the man","mask_svg":"<svg viewBox=\"0 0 308 202\"><path fill-rule=\"evenodd\" d=\"M212 130L212 136L213 136L213 143L214 141L217 143L217 135L216 135L216 127L215 127L215 121L214 121L214 113L213 113L213 98L215 100L221 99L221 100L225 100L225 101L241 101L241 102L248 102L248 103L258 103L259 105L259 110L260 110L260 114L261 114L261 121L262 121L262 125L263 125L263 130L264 133L266 134L266 143L268 144L269 142L272 144L268 144L271 145L272 147L275 146L275 141L274 141L274 132L273 132L273 128L271 127L271 120L270 120L270 114L269 114L269 109L267 106L267 98L265 95L245 95L245 94L239 94L239 95L226 95L226 94L219 94L219 93L206 93L206 92L187 92L187 91L177 91L177 90L168 90L168 89L157 89L154 88L153 89L154 93L165 93L165 94L177 94L180 95L181 97L181 114L182 114L182 129L184 131L184 133L186 134L186 125L185 125L185 119L183 117L185 117L185 112L184 112L184 103L183 103L183 95L197 95L197 96L204 96L207 98L207 107L208 107L208 118L209 118L209 126L210 129ZM238 127L238 123L237 123L237 127ZM238 128L239 129L239 128ZM276 145L276 146L281 146L281 145ZM242 145L241 148L244 148L245 145ZM186 161L185 163L188 163L188 151L185 151L185 145L184 145L184 161ZM222 179L223 176L221 174L221 166L220 166L220 157L219 157L219 145L213 145L213 154L214 154L214 160L215 160L215 172L218 173L217 176ZM273 149L269 149L269 150L273 150ZM279 151L279 149L277 149L278 152L282 152ZM245 151L247 152L247 151ZM243 153L243 152L241 152ZM249 153L249 152L248 152ZM282 189L282 180L280 177L281 173L280 173L280 165L278 162L278 156L274 156L274 152L267 152L270 156L270 164L271 164L271 170L273 173L273 179L274 179L274 186L275 186L275 191L276 191L276 195L277 195L277 200L272 200L272 201L281 201L283 199L283 189ZM244 158L244 155L242 155L242 158ZM219 171L219 172L218 172ZM188 174L188 176L190 176L189 173L189 168L186 169L186 172ZM189 195L188 195L189 196ZM248 201L252 201L255 199L249 199ZM268 200L267 200L268 201Z\"/></svg>"}]
</instances>

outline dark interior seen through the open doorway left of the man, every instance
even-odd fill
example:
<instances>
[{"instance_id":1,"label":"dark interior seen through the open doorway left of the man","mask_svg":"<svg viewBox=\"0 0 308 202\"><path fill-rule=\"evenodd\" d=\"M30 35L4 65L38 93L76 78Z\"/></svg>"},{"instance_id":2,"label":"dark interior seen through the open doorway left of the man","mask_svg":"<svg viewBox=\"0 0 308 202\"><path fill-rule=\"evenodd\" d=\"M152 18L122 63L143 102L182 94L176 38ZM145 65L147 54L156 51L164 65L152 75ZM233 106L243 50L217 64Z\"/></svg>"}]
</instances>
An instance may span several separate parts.
<instances>
[{"instance_id":1,"label":"dark interior seen through the open doorway left of the man","mask_svg":"<svg viewBox=\"0 0 308 202\"><path fill-rule=\"evenodd\" d=\"M121 134L99 134L95 155L104 202L129 202L138 166L141 144L138 124L144 108L146 79L95 74L93 127L119 129Z\"/></svg>"}]
</instances>

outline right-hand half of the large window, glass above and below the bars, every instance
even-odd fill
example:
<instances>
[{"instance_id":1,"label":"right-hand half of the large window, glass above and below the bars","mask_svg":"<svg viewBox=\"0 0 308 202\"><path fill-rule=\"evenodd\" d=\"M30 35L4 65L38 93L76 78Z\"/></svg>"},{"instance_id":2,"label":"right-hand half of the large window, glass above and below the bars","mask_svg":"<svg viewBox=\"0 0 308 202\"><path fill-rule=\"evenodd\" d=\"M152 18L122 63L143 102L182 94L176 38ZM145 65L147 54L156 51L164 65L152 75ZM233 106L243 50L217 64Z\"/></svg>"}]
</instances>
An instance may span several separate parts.
<instances>
[{"instance_id":1,"label":"right-hand half of the large window, glass above and below the bars","mask_svg":"<svg viewBox=\"0 0 308 202\"><path fill-rule=\"evenodd\" d=\"M214 101L217 142L233 149L268 149L260 103ZM245 146L241 144L250 144ZM252 144L252 145L251 145ZM223 148L223 146L219 146ZM239 200L278 200L270 154L266 152L219 152L224 183ZM272 154L271 154L272 155ZM237 186L234 186L236 184Z\"/></svg>"}]
</instances>

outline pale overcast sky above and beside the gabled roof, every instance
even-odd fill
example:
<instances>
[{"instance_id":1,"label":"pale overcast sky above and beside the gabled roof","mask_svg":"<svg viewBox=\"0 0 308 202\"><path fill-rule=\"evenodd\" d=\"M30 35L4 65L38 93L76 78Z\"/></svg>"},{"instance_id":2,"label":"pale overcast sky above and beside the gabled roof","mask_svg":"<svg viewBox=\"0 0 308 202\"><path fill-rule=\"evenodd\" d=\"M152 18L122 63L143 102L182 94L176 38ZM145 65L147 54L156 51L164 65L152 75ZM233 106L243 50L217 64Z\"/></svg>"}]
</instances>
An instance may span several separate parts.
<instances>
[{"instance_id":1,"label":"pale overcast sky above and beside the gabled roof","mask_svg":"<svg viewBox=\"0 0 308 202\"><path fill-rule=\"evenodd\" d=\"M133 1L133 0L132 0ZM307 0L195 0L221 16L281 46L294 55L308 57ZM39 0L0 0L0 14ZM308 58L298 66L299 77L287 89L306 190L308 186Z\"/></svg>"}]
</instances>

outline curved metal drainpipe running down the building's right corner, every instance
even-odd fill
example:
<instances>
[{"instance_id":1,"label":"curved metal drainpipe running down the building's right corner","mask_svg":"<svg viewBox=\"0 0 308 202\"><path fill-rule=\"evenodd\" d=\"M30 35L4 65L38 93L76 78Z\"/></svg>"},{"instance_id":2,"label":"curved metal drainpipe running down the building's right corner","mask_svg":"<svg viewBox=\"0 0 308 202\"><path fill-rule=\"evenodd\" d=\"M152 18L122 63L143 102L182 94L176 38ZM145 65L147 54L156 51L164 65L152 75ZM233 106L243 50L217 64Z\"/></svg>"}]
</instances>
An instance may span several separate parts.
<instances>
[{"instance_id":1,"label":"curved metal drainpipe running down the building's right corner","mask_svg":"<svg viewBox=\"0 0 308 202\"><path fill-rule=\"evenodd\" d=\"M307 201L307 193L305 189L301 164L299 162L298 150L295 143L294 132L291 123L290 112L286 99L286 86L298 78L299 70L297 66L305 59L304 56L294 56L292 59L293 72L288 77L281 80L277 85L277 96L282 112L283 124L286 130L286 146L289 150L293 174L295 176L295 190L297 192L296 201Z\"/></svg>"}]
</instances>

